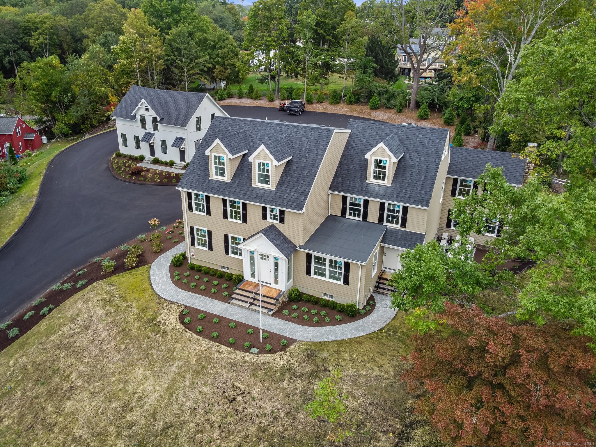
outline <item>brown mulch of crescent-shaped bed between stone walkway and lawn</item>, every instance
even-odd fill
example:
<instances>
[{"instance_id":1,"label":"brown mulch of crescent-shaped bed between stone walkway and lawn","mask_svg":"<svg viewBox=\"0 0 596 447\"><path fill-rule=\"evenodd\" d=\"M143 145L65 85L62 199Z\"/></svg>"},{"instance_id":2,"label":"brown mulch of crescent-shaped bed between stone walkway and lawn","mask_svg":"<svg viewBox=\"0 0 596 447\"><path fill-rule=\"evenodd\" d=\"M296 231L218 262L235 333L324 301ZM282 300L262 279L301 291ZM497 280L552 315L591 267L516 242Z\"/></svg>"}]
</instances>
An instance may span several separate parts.
<instances>
[{"instance_id":1,"label":"brown mulch of crescent-shaped bed between stone walkway and lawn","mask_svg":"<svg viewBox=\"0 0 596 447\"><path fill-rule=\"evenodd\" d=\"M188 309L190 312L184 315L184 310ZM205 314L205 318L198 319L198 315L201 313ZM184 322L185 318L190 318L192 321L186 324ZM219 318L218 323L214 323L213 319ZM224 318L219 315L215 315L213 313L201 311L201 309L195 309L191 307L187 307L180 312L178 316L180 324L182 324L189 332L195 334L196 336L203 337L210 342L215 342L227 346L231 349L235 349L241 352L248 352L250 353L250 349L252 347L256 347L259 350L259 354L273 354L276 352L281 352L288 347L290 347L296 340L290 339L288 337L283 337L280 334L274 334L272 332L263 331L264 334L268 334L268 338L263 337L263 343L260 343L260 336L259 336L259 328L256 326L251 326L249 324L244 324L238 321L234 321L229 318ZM229 323L233 322L236 327L231 328L229 327ZM197 327L202 327L203 330L201 332L197 332ZM247 334L247 330L252 329L252 334ZM217 332L218 337L214 339L212 337L212 333ZM234 339L235 343L229 343L229 339ZM285 340L288 342L285 346L280 344L281 340ZM249 342L249 347L244 347L244 343ZM265 346L271 344L271 350L267 351Z\"/></svg>"}]
</instances>

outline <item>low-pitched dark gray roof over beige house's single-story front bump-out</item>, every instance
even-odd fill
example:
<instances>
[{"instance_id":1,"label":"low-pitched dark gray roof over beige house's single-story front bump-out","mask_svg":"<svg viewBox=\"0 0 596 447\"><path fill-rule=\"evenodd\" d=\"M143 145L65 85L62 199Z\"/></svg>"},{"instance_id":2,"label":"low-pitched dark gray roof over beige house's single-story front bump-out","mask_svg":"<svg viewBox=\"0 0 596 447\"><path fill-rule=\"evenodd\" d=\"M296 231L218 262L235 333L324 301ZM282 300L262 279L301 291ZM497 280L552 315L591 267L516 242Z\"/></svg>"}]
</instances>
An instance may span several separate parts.
<instances>
[{"instance_id":1,"label":"low-pitched dark gray roof over beige house's single-story front bump-out","mask_svg":"<svg viewBox=\"0 0 596 447\"><path fill-rule=\"evenodd\" d=\"M373 222L327 216L299 248L364 264L386 228Z\"/></svg>"}]
</instances>

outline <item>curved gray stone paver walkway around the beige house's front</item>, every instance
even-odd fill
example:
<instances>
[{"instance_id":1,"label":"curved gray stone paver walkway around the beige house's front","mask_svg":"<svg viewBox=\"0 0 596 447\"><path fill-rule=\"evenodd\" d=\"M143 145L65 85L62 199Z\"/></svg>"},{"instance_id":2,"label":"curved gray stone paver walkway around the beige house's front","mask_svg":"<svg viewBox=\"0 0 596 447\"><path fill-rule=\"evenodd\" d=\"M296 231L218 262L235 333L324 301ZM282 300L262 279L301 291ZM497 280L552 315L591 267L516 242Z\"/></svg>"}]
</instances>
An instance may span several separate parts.
<instances>
[{"instance_id":1,"label":"curved gray stone paver walkway around the beige house's front","mask_svg":"<svg viewBox=\"0 0 596 447\"><path fill-rule=\"evenodd\" d=\"M185 306L201 309L205 312L215 313L224 318L231 318L259 327L259 313L248 309L232 306L228 303L199 295L176 287L170 280L169 266L174 254L184 250L184 243L170 249L159 256L151 265L151 285L156 293L163 299L180 303ZM352 323L328 327L308 327L284 321L274 316L263 315L263 330L280 334L291 339L306 342L329 342L331 340L344 340L363 336L378 331L389 323L395 316L396 310L392 309L391 299L388 296L374 294L377 302L370 315Z\"/></svg>"}]
</instances>

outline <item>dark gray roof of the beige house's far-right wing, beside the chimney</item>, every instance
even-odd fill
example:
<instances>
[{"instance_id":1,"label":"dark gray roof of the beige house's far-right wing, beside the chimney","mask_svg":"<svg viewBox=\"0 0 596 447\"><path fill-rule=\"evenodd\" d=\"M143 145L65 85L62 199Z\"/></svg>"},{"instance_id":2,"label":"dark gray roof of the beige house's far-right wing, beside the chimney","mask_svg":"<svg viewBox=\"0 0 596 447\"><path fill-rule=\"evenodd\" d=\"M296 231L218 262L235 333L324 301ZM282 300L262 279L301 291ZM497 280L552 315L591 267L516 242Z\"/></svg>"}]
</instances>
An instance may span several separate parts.
<instances>
[{"instance_id":1,"label":"dark gray roof of the beige house's far-right wing, beside the chimney","mask_svg":"<svg viewBox=\"0 0 596 447\"><path fill-rule=\"evenodd\" d=\"M518 154L470 147L452 147L450 151L447 175L475 179L484 172L486 164L491 163L492 167L503 167L507 183L512 185L523 183L526 162L520 159ZM513 158L513 155L516 155L516 158Z\"/></svg>"}]
</instances>

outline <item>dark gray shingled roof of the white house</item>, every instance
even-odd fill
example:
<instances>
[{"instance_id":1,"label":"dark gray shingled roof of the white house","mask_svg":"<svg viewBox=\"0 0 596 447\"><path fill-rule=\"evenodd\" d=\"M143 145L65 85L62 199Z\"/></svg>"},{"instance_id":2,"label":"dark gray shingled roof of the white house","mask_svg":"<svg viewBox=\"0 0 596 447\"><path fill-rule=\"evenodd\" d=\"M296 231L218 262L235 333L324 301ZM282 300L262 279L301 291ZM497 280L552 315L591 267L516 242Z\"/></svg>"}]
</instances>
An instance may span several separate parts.
<instances>
[{"instance_id":1,"label":"dark gray shingled roof of the white house","mask_svg":"<svg viewBox=\"0 0 596 447\"><path fill-rule=\"evenodd\" d=\"M135 111L136 106L142 100L145 100L159 117L160 124L186 127L205 96L205 93L158 90L133 85L126 92L111 116L135 119L136 116L132 113Z\"/></svg>"}]
</instances>

